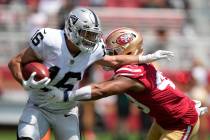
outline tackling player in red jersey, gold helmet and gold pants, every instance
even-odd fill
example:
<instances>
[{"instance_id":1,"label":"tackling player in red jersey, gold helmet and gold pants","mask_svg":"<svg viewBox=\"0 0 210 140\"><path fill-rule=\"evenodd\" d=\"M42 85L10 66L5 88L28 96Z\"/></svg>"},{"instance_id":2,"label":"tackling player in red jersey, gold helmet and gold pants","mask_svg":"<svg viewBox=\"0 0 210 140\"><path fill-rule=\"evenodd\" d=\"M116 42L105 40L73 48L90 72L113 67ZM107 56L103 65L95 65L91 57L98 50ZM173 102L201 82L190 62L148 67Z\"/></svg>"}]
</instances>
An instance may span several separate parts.
<instances>
[{"instance_id":1,"label":"tackling player in red jersey, gold helmet and gold pants","mask_svg":"<svg viewBox=\"0 0 210 140\"><path fill-rule=\"evenodd\" d=\"M143 53L140 33L129 28L114 30L106 44L113 55ZM55 92L51 97L54 101L84 101L119 94L125 94L144 113L154 117L148 140L190 139L198 132L199 115L207 109L186 96L152 64L124 65L115 70L109 81Z\"/></svg>"}]
</instances>

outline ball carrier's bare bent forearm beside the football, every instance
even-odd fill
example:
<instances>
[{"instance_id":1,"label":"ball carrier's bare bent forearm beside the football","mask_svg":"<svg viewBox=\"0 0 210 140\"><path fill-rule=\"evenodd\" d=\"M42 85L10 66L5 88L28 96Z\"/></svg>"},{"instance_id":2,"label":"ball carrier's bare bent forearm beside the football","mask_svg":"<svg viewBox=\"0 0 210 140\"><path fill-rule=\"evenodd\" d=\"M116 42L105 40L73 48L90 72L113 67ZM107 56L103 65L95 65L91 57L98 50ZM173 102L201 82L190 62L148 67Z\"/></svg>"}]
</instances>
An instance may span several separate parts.
<instances>
[{"instance_id":1,"label":"ball carrier's bare bent forearm beside the football","mask_svg":"<svg viewBox=\"0 0 210 140\"><path fill-rule=\"evenodd\" d=\"M22 72L21 72L21 63L20 63L20 59L18 58L13 58L9 63L8 63L8 67L13 75L13 77L15 78L15 80L22 84Z\"/></svg>"}]
</instances>

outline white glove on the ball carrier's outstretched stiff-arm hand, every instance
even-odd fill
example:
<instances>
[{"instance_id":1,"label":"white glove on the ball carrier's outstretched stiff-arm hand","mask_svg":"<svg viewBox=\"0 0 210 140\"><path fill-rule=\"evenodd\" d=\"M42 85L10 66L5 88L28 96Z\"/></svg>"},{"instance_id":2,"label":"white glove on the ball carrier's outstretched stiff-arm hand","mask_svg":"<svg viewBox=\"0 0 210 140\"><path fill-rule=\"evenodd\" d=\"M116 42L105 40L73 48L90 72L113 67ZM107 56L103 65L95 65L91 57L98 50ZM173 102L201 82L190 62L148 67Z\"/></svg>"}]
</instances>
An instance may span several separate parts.
<instances>
[{"instance_id":1,"label":"white glove on the ball carrier's outstretched stiff-arm hand","mask_svg":"<svg viewBox=\"0 0 210 140\"><path fill-rule=\"evenodd\" d=\"M140 63L150 63L150 62L157 61L160 59L171 60L172 57L174 57L173 52L165 51L165 50L158 50L158 51L154 52L153 54L139 55L139 62Z\"/></svg>"}]
</instances>

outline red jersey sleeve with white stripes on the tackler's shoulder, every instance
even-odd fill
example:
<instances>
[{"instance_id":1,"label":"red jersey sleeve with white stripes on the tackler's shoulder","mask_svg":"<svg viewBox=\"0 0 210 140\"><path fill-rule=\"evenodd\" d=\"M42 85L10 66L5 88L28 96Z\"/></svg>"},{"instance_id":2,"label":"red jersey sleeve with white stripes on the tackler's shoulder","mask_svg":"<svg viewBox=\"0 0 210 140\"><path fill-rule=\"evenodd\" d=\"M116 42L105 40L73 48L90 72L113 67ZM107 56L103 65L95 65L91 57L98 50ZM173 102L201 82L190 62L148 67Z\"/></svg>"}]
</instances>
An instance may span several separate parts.
<instances>
[{"instance_id":1,"label":"red jersey sleeve with white stripes on the tackler's shoulder","mask_svg":"<svg viewBox=\"0 0 210 140\"><path fill-rule=\"evenodd\" d=\"M143 67L139 67L138 65L125 65L115 71L115 77L126 76L136 79L144 76L144 73Z\"/></svg>"}]
</instances>

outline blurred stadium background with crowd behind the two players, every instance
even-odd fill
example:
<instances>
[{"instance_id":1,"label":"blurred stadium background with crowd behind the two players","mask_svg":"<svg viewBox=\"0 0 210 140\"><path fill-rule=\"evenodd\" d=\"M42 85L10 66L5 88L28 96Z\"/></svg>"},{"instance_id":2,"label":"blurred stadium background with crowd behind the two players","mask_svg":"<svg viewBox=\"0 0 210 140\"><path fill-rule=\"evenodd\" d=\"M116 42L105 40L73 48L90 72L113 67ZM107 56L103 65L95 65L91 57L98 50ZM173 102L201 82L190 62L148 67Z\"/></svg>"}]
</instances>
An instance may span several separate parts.
<instances>
[{"instance_id":1,"label":"blurred stadium background with crowd behind the two players","mask_svg":"<svg viewBox=\"0 0 210 140\"><path fill-rule=\"evenodd\" d=\"M7 68L9 59L27 47L29 34L37 28L63 28L64 17L75 6L90 7L99 15L104 36L117 27L132 27L143 34L145 53L174 51L171 62L156 65L187 95L209 106L210 0L0 0L0 140L16 139L18 119L27 100L27 93ZM111 75L92 66L81 85ZM124 96L80 107L85 140L143 140L152 121ZM201 119L197 139L209 136L207 114Z\"/></svg>"}]
</instances>

